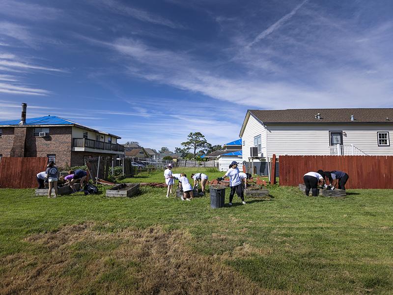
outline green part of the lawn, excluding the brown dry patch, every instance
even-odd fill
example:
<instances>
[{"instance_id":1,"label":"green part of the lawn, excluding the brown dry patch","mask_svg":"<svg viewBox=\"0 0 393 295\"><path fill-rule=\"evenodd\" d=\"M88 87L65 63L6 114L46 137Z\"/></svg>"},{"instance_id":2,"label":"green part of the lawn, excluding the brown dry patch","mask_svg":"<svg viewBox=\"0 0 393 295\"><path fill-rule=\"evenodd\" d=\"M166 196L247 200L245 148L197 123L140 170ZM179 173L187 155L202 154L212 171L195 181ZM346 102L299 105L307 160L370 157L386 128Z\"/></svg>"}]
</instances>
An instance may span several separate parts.
<instances>
[{"instance_id":1,"label":"green part of the lawn, excluding the brown dry patch","mask_svg":"<svg viewBox=\"0 0 393 295\"><path fill-rule=\"evenodd\" d=\"M203 171L176 168L174 173L190 177ZM163 182L162 174L123 182ZM207 174L214 179L224 173ZM329 199L306 197L297 188L269 189L271 200L246 200L248 205L241 206L235 198L233 207L221 209L211 209L208 197L192 202L166 199L166 188L142 187L142 193L130 199L81 193L47 199L34 197L29 189L0 189L0 259L16 254L45 256L48 249L26 237L66 225L93 222L98 233L158 225L165 231L190 233L190 251L213 257L264 289L296 294L392 294L393 190L348 190L345 199ZM115 251L119 243L73 243L68 249L78 263L68 266L64 275L82 280L89 261ZM138 285L135 275L143 267L139 261L105 264L110 269L86 289L81 286L82 293L96 290L94 284L117 282L120 289ZM11 265L0 264L0 277L10 269Z\"/></svg>"}]
</instances>

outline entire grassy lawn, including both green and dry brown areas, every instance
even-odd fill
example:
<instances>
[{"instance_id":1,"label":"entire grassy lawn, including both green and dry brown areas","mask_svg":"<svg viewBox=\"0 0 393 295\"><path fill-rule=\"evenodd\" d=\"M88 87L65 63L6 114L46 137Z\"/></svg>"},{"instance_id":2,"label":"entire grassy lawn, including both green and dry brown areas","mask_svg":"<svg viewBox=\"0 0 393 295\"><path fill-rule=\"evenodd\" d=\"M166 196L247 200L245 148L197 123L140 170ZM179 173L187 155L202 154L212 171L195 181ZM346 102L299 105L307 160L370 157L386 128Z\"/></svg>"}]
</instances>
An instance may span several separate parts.
<instances>
[{"instance_id":1,"label":"entire grassy lawn, including both green and dry brown areas","mask_svg":"<svg viewBox=\"0 0 393 295\"><path fill-rule=\"evenodd\" d=\"M221 209L166 188L130 199L0 189L0 294L392 294L393 190L269 189Z\"/></svg>"}]
</instances>

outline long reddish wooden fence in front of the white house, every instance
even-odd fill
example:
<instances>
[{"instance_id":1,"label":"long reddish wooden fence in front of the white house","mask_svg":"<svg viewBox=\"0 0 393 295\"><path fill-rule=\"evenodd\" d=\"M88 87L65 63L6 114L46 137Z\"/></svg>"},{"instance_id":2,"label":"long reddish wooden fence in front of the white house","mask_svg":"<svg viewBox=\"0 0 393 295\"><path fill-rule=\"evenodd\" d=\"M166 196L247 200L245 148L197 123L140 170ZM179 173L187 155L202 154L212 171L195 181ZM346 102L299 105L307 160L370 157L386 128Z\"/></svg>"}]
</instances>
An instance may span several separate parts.
<instances>
[{"instance_id":1,"label":"long reddish wooden fence in front of the white house","mask_svg":"<svg viewBox=\"0 0 393 295\"><path fill-rule=\"evenodd\" d=\"M347 188L393 188L393 156L280 156L280 185L297 186L319 169L347 173Z\"/></svg>"}]
</instances>

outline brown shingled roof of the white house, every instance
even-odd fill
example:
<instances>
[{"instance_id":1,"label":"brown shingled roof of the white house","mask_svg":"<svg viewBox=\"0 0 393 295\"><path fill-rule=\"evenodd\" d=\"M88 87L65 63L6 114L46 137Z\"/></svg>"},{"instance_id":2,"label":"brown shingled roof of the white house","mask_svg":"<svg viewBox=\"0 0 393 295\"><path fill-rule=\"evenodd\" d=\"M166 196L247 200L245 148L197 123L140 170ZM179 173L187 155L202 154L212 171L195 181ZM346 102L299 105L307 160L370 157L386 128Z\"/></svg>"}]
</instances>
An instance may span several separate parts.
<instances>
[{"instance_id":1,"label":"brown shingled roof of the white house","mask_svg":"<svg viewBox=\"0 0 393 295\"><path fill-rule=\"evenodd\" d=\"M393 123L393 109L293 109L249 110L263 123ZM321 119L315 115L321 114ZM354 115L355 121L351 121ZM388 119L387 119L388 118Z\"/></svg>"}]
</instances>

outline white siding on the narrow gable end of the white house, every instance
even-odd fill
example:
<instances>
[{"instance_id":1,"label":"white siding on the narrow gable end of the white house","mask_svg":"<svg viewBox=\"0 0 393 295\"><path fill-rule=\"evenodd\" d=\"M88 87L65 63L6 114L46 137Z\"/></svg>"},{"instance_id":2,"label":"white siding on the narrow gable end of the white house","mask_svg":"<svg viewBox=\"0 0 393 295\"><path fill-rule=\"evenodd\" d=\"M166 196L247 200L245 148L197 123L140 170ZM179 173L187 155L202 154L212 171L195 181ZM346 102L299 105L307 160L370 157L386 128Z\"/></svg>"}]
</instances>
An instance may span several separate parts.
<instances>
[{"instance_id":1,"label":"white siding on the narrow gable end of the white house","mask_svg":"<svg viewBox=\"0 0 393 295\"><path fill-rule=\"evenodd\" d=\"M247 122L247 125L244 129L243 136L242 136L242 141L243 141L243 161L248 161L250 155L250 148L254 147L254 137L260 135L261 136L261 149L259 155L262 155L262 157L266 156L266 144L265 144L265 138L266 138L266 130L263 127L263 125L256 120L253 116L250 115L250 118ZM262 161L265 161L265 159L262 159ZM258 162L258 160L254 159L254 162Z\"/></svg>"}]
</instances>

